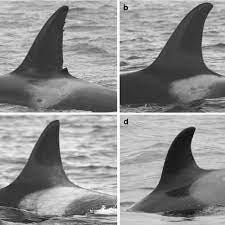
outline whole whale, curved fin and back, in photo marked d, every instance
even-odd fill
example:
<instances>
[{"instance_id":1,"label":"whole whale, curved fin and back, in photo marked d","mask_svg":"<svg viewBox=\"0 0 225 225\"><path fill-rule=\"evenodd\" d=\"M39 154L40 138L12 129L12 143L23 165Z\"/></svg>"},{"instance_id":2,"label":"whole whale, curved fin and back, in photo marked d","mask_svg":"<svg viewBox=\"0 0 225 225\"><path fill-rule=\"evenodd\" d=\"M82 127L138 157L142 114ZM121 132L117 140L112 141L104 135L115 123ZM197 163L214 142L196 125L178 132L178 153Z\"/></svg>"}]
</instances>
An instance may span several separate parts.
<instances>
[{"instance_id":1,"label":"whole whale, curved fin and back, in photo marked d","mask_svg":"<svg viewBox=\"0 0 225 225\"><path fill-rule=\"evenodd\" d=\"M225 206L225 169L202 169L192 155L195 132L189 127L172 142L156 188L131 211L193 214L206 207Z\"/></svg>"}]
</instances>

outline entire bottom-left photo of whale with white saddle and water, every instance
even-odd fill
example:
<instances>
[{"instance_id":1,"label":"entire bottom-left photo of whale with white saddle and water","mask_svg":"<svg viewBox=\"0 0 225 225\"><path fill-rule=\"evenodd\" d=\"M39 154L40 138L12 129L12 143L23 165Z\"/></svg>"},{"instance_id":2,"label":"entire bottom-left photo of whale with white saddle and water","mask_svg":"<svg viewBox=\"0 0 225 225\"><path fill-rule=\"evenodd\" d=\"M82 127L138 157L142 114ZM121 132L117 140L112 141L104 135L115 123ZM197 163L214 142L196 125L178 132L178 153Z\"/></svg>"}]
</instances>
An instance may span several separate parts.
<instances>
[{"instance_id":1,"label":"entire bottom-left photo of whale with white saddle and water","mask_svg":"<svg viewBox=\"0 0 225 225\"><path fill-rule=\"evenodd\" d=\"M0 116L0 224L117 223L116 116Z\"/></svg>"}]
</instances>

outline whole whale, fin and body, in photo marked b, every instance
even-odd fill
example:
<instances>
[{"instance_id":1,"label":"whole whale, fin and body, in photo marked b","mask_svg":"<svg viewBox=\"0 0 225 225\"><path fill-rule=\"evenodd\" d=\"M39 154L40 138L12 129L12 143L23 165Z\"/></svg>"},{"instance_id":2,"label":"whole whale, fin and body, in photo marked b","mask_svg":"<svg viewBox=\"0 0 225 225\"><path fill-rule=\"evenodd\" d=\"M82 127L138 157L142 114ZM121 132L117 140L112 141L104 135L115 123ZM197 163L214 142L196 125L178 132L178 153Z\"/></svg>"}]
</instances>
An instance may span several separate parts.
<instances>
[{"instance_id":1,"label":"whole whale, fin and body, in photo marked b","mask_svg":"<svg viewBox=\"0 0 225 225\"><path fill-rule=\"evenodd\" d=\"M204 23L212 7L203 3L189 12L150 66L121 74L121 105L187 104L225 96L225 77L208 69L202 56Z\"/></svg>"}]
</instances>

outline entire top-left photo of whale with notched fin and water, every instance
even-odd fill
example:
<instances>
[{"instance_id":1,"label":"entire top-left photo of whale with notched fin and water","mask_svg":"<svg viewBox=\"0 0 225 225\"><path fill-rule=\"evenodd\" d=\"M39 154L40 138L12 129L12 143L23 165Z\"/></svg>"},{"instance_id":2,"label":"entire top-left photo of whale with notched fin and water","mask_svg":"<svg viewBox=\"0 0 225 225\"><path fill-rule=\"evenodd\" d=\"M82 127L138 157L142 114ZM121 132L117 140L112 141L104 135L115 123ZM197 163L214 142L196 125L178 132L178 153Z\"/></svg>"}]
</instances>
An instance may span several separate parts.
<instances>
[{"instance_id":1,"label":"entire top-left photo of whale with notched fin and water","mask_svg":"<svg viewBox=\"0 0 225 225\"><path fill-rule=\"evenodd\" d=\"M116 0L1 1L0 112L115 112Z\"/></svg>"}]
</instances>

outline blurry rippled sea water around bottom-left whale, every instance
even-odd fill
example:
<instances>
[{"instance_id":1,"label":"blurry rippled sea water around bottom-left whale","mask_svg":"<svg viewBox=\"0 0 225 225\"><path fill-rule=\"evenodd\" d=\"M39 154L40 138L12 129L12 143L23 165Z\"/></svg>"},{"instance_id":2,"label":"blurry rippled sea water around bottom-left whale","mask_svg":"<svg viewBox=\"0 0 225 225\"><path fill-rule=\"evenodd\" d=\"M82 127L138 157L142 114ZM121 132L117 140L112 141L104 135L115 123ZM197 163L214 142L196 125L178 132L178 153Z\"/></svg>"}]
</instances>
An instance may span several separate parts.
<instances>
[{"instance_id":1,"label":"blurry rippled sea water around bottom-left whale","mask_svg":"<svg viewBox=\"0 0 225 225\"><path fill-rule=\"evenodd\" d=\"M116 196L117 131L113 116L1 116L0 188L19 175L41 132L55 119L61 122L61 157L69 179L81 187ZM116 209L58 217L40 224L116 224Z\"/></svg>"}]
</instances>

